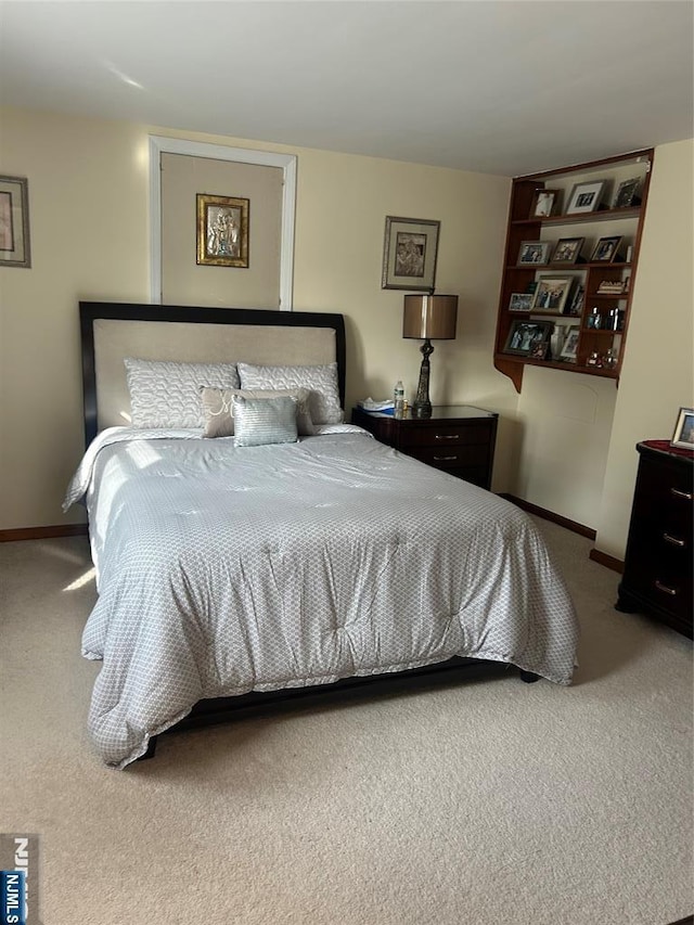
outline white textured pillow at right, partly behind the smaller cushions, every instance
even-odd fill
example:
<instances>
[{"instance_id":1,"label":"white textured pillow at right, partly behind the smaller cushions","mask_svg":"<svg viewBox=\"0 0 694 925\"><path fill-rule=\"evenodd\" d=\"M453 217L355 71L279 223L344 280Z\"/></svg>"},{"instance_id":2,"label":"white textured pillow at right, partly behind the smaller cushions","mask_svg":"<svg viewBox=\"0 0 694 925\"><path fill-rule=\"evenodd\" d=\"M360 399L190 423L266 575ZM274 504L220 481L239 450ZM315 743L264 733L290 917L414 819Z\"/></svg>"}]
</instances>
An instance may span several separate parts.
<instances>
[{"instance_id":1,"label":"white textured pillow at right, partly behind the smaller cushions","mask_svg":"<svg viewBox=\"0 0 694 925\"><path fill-rule=\"evenodd\" d=\"M342 424L337 363L321 367L257 367L237 363L242 388L308 388L313 424Z\"/></svg>"}]
</instances>

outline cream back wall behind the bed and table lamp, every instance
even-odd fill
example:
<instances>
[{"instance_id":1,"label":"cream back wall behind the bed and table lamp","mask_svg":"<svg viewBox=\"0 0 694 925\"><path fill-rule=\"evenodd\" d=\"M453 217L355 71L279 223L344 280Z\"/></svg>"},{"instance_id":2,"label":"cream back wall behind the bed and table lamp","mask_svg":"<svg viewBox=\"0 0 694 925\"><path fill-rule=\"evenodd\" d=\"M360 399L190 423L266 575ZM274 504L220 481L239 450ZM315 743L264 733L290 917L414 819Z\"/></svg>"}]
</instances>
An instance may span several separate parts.
<instances>
[{"instance_id":1,"label":"cream back wall behind the bed and table lamp","mask_svg":"<svg viewBox=\"0 0 694 925\"><path fill-rule=\"evenodd\" d=\"M82 450L77 303L149 301L150 132L297 155L294 307L346 314L348 407L397 378L415 387L402 293L381 288L385 217L439 219L438 288L460 295L461 319L434 354L432 397L515 408L491 362L507 179L28 111L1 119L0 172L29 179L33 268L0 268L0 529L83 518L61 512Z\"/></svg>"}]
</instances>

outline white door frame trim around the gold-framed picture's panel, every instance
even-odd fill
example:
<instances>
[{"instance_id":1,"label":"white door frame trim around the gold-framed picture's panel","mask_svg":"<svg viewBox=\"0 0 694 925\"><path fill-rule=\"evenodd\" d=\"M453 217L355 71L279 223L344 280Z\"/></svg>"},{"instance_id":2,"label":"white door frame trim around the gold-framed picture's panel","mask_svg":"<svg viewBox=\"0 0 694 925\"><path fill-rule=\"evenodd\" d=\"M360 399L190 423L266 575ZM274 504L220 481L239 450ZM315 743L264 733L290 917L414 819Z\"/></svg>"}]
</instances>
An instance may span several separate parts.
<instances>
[{"instance_id":1,"label":"white door frame trim around the gold-framed picture's panel","mask_svg":"<svg viewBox=\"0 0 694 925\"><path fill-rule=\"evenodd\" d=\"M184 154L213 160L235 160L282 170L282 228L280 236L280 310L292 311L294 290L294 216L296 207L296 155L229 147L180 138L150 136L150 293L162 303L162 154ZM274 306L268 306L274 307Z\"/></svg>"}]
</instances>

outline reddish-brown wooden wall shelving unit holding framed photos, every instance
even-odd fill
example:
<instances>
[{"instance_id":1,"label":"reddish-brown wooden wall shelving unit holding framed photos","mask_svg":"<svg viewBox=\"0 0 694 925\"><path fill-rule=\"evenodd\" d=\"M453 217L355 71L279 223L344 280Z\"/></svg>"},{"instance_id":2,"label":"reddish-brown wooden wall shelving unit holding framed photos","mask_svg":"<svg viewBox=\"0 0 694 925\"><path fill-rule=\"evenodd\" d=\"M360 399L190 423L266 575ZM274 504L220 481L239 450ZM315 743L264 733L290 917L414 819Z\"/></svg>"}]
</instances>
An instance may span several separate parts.
<instances>
[{"instance_id":1,"label":"reddish-brown wooden wall shelving unit holding framed photos","mask_svg":"<svg viewBox=\"0 0 694 925\"><path fill-rule=\"evenodd\" d=\"M517 391L522 389L527 365L615 381L619 378L653 155L653 150L647 149L514 179L499 298L494 365L513 381ZM590 189L601 183L602 191L592 210L576 211L577 185L582 188L586 184ZM629 198L629 192L634 188L635 194ZM538 193L542 190L554 192L553 209L549 215L536 214ZM625 198L626 205L622 204ZM582 237L583 243L576 262L551 262L560 240L577 237ZM616 256L612 260L592 260L597 242L604 237L619 239ZM549 244L550 262L520 264L522 245L536 241ZM531 296L532 290L543 278L545 287L550 284L547 281L553 278L569 280L569 295L562 311L545 308L518 311L510 308L513 294ZM606 283L621 287L622 291L605 293L602 290ZM589 321L591 316L594 318ZM600 317L600 326L593 326L595 317ZM556 335L551 344L547 344L544 355L542 344L535 350L518 352L514 339L516 333L520 329L531 334L535 323L540 320L551 322L549 326L547 323L540 325L545 334L551 332ZM573 346L574 355L561 356L557 345L565 348ZM522 346L525 348L527 343Z\"/></svg>"}]
</instances>

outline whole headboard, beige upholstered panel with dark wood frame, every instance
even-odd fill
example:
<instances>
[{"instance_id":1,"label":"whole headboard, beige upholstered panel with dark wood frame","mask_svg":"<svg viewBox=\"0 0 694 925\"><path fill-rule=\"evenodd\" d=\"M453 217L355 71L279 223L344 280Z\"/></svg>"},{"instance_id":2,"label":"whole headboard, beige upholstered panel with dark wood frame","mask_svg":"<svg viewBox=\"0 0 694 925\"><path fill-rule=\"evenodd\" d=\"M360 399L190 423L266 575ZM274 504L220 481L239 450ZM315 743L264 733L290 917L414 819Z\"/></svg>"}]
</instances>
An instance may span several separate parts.
<instances>
[{"instance_id":1,"label":"whole headboard, beige upholstered panel with dark wood frame","mask_svg":"<svg viewBox=\"0 0 694 925\"><path fill-rule=\"evenodd\" d=\"M342 314L80 303L85 437L127 424L124 359L319 365L337 362L345 401Z\"/></svg>"}]
</instances>

